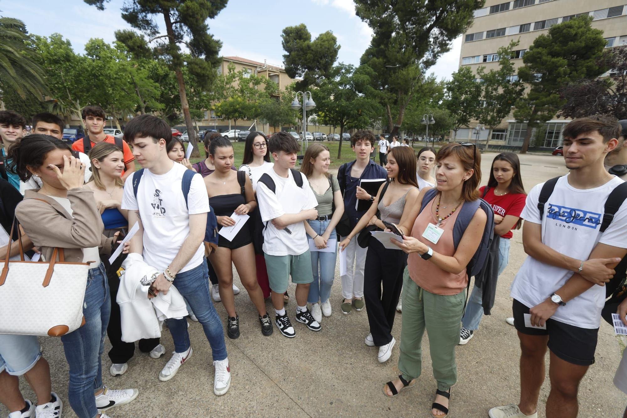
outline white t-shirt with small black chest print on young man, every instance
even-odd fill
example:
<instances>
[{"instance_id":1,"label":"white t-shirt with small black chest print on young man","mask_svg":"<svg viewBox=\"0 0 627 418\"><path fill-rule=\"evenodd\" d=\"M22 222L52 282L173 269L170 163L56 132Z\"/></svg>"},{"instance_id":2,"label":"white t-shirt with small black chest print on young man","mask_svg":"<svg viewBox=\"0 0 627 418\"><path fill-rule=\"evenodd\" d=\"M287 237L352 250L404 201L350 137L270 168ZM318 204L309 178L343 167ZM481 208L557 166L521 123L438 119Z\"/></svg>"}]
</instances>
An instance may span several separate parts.
<instances>
[{"instance_id":1,"label":"white t-shirt with small black chest print on young man","mask_svg":"<svg viewBox=\"0 0 627 418\"><path fill-rule=\"evenodd\" d=\"M122 209L139 209L144 225L142 255L148 265L159 271L164 271L174 260L189 235L189 215L209 212L209 196L200 175L192 177L185 206L182 191L185 171L186 168L182 164L172 164L170 171L159 176L145 169L137 189L137 200L133 194L132 178L124 184ZM201 244L179 272L198 267L203 262L203 257L204 245Z\"/></svg>"}]
</instances>

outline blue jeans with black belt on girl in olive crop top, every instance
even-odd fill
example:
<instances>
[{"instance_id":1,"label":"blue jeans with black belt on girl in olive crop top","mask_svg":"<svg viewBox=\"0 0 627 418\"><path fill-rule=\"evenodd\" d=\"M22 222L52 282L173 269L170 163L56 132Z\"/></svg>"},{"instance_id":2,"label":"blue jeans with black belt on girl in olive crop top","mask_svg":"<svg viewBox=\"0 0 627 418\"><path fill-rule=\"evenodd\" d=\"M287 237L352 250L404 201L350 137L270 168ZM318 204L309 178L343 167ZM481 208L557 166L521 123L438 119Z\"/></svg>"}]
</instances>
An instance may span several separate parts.
<instances>
[{"instance_id":1,"label":"blue jeans with black belt on girl in olive crop top","mask_svg":"<svg viewBox=\"0 0 627 418\"><path fill-rule=\"evenodd\" d=\"M329 226L330 221L308 220L309 226L315 233L322 235ZM331 231L330 240L337 239L335 228ZM335 259L337 258L337 245L335 252L312 251L312 272L314 281L309 286L307 296L308 303L326 302L331 296L331 286L335 277Z\"/></svg>"}]
</instances>

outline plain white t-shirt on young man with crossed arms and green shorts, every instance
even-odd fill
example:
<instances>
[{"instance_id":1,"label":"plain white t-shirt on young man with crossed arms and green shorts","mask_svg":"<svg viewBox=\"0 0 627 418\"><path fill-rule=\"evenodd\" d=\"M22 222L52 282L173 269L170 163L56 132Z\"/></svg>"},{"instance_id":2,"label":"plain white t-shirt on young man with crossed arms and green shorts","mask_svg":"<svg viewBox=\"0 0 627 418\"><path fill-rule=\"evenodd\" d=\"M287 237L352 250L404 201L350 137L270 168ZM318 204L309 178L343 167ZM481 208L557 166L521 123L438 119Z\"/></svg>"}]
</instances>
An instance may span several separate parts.
<instances>
[{"instance_id":1,"label":"plain white t-shirt on young man with crossed arms and green shorts","mask_svg":"<svg viewBox=\"0 0 627 418\"><path fill-rule=\"evenodd\" d=\"M305 225L302 222L292 223L288 229L279 230L270 222L286 213L299 213L303 210L314 209L318 206L314 191L309 186L305 174L298 173L303 177L302 188L296 185L292 171L288 171L288 177L279 176L274 169L268 170L268 174L275 182L275 190L272 193L263 183L257 184L257 201L261 220L268 222L263 232L263 252L269 255L300 255L309 249L307 235L305 235Z\"/></svg>"}]
</instances>

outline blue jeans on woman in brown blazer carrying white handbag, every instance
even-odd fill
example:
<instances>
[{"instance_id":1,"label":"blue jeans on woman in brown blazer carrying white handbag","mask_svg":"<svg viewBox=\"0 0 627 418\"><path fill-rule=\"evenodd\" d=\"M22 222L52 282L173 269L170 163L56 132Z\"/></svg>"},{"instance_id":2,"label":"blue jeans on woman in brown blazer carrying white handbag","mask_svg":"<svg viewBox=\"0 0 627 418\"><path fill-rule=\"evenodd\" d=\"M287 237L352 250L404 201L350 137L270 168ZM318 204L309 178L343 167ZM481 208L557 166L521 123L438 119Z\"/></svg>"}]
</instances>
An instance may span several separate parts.
<instances>
[{"instance_id":1,"label":"blue jeans on woman in brown blazer carrying white handbag","mask_svg":"<svg viewBox=\"0 0 627 418\"><path fill-rule=\"evenodd\" d=\"M68 397L79 418L98 415L94 392L102 389L102 354L111 313L111 299L104 265L90 269L83 302L85 325L61 337L70 365Z\"/></svg>"}]
</instances>

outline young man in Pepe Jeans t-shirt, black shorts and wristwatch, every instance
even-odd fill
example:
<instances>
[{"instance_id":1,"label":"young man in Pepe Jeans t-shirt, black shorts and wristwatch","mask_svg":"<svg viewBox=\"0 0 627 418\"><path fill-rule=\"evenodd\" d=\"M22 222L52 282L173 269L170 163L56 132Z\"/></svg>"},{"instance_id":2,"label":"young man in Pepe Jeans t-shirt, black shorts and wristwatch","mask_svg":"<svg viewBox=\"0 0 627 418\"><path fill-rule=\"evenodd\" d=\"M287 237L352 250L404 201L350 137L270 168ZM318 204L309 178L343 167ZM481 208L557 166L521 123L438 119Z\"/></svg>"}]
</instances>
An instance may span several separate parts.
<instances>
[{"instance_id":1,"label":"young man in Pepe Jeans t-shirt, black shorts and wristwatch","mask_svg":"<svg viewBox=\"0 0 627 418\"><path fill-rule=\"evenodd\" d=\"M627 252L627 203L600 232L609 193L623 180L603 166L618 144L620 127L611 117L570 122L563 132L570 173L557 181L538 208L535 186L521 213L525 259L512 284L514 326L520 348L520 403L490 409L492 418L537 417L544 356L551 350L547 417L577 416L577 387L594 363L594 351L614 266ZM531 326L546 327L546 329Z\"/></svg>"}]
</instances>

